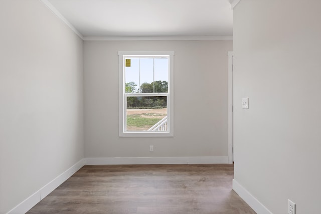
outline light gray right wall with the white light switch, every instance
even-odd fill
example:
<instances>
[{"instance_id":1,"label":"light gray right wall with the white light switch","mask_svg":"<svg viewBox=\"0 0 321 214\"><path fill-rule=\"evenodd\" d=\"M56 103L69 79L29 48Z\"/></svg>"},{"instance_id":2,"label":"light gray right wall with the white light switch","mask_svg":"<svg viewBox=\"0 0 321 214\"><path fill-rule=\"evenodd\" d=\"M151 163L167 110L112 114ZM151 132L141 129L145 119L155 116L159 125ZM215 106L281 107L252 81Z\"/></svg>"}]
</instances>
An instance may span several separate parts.
<instances>
[{"instance_id":1,"label":"light gray right wall with the white light switch","mask_svg":"<svg viewBox=\"0 0 321 214\"><path fill-rule=\"evenodd\" d=\"M320 212L320 8L242 0L233 12L235 180L274 214L288 198Z\"/></svg>"}]
</instances>

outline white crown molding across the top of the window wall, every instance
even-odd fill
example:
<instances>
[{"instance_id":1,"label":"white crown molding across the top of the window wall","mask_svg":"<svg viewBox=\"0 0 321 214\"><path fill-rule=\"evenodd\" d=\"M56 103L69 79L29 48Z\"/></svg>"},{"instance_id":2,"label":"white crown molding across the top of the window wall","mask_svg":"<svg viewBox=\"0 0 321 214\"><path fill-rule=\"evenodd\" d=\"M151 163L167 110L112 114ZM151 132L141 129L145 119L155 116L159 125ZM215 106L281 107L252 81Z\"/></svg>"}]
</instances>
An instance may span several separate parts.
<instances>
[{"instance_id":1,"label":"white crown molding across the top of the window wall","mask_svg":"<svg viewBox=\"0 0 321 214\"><path fill-rule=\"evenodd\" d=\"M233 36L84 37L85 41L233 40Z\"/></svg>"}]
</instances>

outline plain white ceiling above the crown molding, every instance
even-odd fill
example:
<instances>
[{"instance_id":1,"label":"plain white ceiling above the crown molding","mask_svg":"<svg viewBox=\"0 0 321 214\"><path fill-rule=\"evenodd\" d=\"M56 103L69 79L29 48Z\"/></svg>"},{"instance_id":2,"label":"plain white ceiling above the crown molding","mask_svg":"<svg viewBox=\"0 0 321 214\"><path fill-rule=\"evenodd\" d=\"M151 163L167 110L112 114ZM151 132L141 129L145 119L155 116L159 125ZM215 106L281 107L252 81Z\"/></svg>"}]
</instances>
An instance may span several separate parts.
<instances>
[{"instance_id":1,"label":"plain white ceiling above the crown molding","mask_svg":"<svg viewBox=\"0 0 321 214\"><path fill-rule=\"evenodd\" d=\"M49 2L83 37L204 37L232 35L233 18L229 1L231 0L43 2L47 2L47 5Z\"/></svg>"}]
</instances>

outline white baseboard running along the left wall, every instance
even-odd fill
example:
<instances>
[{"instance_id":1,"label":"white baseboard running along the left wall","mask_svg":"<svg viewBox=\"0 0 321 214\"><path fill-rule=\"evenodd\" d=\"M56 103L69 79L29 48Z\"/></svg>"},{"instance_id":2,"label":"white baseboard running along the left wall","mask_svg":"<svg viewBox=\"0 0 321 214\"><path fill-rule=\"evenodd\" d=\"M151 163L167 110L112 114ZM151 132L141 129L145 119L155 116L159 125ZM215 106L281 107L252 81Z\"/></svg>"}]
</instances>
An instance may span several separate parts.
<instances>
[{"instance_id":1,"label":"white baseboard running along the left wall","mask_svg":"<svg viewBox=\"0 0 321 214\"><path fill-rule=\"evenodd\" d=\"M44 197L46 197L50 192L57 188L60 184L65 182L71 175L78 171L81 167L85 165L84 158L78 161L76 164L71 166L69 169L61 173L55 179L47 183L44 187L36 191L34 194L29 196L27 199L19 203L16 207L11 209L7 214L23 214L31 209L34 205L40 202Z\"/></svg>"}]
</instances>

